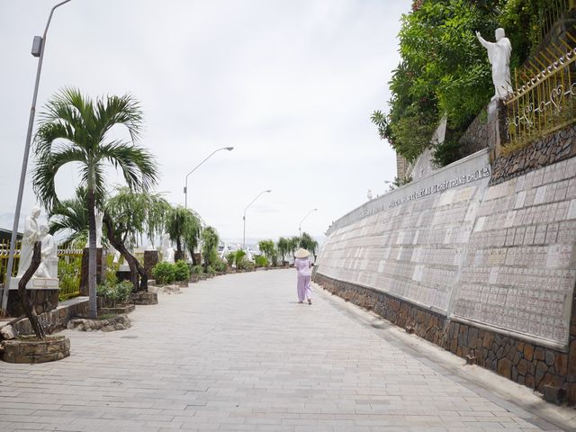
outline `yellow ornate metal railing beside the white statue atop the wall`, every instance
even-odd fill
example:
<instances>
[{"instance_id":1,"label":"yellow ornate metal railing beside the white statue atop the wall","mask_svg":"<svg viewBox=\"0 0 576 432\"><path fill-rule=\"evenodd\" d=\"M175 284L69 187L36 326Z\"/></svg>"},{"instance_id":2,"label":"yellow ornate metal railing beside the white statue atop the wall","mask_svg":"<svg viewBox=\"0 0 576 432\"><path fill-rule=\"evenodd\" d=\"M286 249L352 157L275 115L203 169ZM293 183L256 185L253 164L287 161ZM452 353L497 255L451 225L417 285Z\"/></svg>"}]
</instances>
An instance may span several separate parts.
<instances>
[{"instance_id":1,"label":"yellow ornate metal railing beside the white statue atop the wall","mask_svg":"<svg viewBox=\"0 0 576 432\"><path fill-rule=\"evenodd\" d=\"M505 152L576 122L576 38L567 33L559 43L515 70L515 90L504 101Z\"/></svg>"}]
</instances>

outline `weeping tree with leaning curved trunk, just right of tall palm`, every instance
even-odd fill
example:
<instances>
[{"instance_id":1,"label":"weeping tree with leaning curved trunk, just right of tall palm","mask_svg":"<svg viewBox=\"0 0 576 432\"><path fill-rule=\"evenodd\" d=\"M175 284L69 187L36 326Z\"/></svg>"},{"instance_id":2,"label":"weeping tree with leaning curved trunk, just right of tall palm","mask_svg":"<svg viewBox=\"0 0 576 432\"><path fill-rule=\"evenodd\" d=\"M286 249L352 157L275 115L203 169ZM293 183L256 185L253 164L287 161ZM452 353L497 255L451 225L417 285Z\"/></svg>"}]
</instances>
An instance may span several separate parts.
<instances>
[{"instance_id":1,"label":"weeping tree with leaning curved trunk, just right of tall palm","mask_svg":"<svg viewBox=\"0 0 576 432\"><path fill-rule=\"evenodd\" d=\"M128 187L120 187L104 206L103 222L112 246L120 252L130 267L133 290L148 290L148 275L129 247L146 236L154 238L164 232L170 204L158 193L136 193Z\"/></svg>"}]
</instances>

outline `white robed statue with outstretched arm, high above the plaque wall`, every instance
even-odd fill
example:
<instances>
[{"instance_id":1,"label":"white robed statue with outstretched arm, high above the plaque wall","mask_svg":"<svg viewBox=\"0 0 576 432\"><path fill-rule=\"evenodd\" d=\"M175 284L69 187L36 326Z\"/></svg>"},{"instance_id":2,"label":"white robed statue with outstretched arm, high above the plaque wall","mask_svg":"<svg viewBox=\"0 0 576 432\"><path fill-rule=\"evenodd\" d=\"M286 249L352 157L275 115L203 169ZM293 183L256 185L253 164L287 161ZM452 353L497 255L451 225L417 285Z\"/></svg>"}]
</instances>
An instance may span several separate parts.
<instances>
[{"instance_id":1,"label":"white robed statue with outstretched arm, high above the plaque wall","mask_svg":"<svg viewBox=\"0 0 576 432\"><path fill-rule=\"evenodd\" d=\"M504 99L512 93L510 82L510 54L512 45L506 37L504 29L496 29L496 42L488 42L482 38L480 31L476 37L484 48L488 49L488 59L492 65L492 82L494 83L494 96L492 99Z\"/></svg>"}]
</instances>

